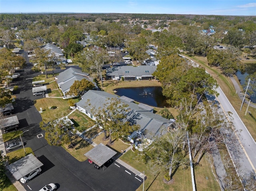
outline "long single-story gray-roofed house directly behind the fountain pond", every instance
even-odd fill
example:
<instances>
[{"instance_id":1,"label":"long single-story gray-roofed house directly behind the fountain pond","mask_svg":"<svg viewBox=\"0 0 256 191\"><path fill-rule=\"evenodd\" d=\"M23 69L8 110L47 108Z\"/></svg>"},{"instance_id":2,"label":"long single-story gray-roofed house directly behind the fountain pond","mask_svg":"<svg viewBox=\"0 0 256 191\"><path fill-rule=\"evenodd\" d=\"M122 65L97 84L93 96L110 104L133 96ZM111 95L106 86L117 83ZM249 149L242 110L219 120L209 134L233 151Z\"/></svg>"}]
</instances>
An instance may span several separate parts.
<instances>
[{"instance_id":1,"label":"long single-story gray-roofed house directly behind the fountain pond","mask_svg":"<svg viewBox=\"0 0 256 191\"><path fill-rule=\"evenodd\" d=\"M153 79L152 73L156 71L156 66L116 66L107 69L106 77L112 80L120 80L124 77L126 81Z\"/></svg>"}]
</instances>

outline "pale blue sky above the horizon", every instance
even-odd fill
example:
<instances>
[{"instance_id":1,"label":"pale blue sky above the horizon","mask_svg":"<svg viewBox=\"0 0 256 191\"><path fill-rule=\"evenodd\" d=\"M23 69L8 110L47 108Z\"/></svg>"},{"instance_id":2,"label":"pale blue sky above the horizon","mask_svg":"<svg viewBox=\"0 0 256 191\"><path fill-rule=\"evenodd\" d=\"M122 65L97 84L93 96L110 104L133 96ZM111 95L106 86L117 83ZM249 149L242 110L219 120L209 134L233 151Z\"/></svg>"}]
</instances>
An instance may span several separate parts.
<instances>
[{"instance_id":1,"label":"pale blue sky above the horizon","mask_svg":"<svg viewBox=\"0 0 256 191\"><path fill-rule=\"evenodd\" d=\"M256 0L0 0L0 13L20 12L256 16Z\"/></svg>"}]
</instances>

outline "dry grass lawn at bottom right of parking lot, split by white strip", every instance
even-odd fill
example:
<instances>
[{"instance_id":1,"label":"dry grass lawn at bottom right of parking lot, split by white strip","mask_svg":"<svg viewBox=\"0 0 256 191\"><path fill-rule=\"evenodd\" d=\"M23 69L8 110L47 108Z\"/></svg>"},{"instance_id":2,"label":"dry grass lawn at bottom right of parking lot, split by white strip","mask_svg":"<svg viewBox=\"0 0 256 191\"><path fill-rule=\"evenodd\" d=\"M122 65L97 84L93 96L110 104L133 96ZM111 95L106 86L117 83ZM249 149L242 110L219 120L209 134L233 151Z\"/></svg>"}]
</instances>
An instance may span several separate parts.
<instances>
[{"instance_id":1,"label":"dry grass lawn at bottom right of parking lot, split by white strip","mask_svg":"<svg viewBox=\"0 0 256 191\"><path fill-rule=\"evenodd\" d=\"M167 185L163 182L165 171L160 173L154 173L147 165L142 162L142 158L129 150L126 154L120 157L121 160L128 163L140 172L145 171L147 179L144 182L144 190L155 191L155 190L168 190L168 191L191 191L191 173L190 167L179 167L174 174L174 182L171 185ZM203 157L200 164L195 167L195 179L197 191L216 191L220 190L220 186L212 174L209 163L206 157ZM208 177L208 180L206 180ZM142 190L143 185L137 189Z\"/></svg>"}]
</instances>

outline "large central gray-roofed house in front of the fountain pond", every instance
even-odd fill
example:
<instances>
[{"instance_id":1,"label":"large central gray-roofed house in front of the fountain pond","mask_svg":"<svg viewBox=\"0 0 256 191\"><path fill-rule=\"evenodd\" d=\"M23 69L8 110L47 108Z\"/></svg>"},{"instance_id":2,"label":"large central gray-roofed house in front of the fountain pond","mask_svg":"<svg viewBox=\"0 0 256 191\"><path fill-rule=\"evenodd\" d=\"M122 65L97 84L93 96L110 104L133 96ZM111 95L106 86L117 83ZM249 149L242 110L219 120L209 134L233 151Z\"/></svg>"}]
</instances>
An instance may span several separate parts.
<instances>
[{"instance_id":1,"label":"large central gray-roofed house in front of the fountain pond","mask_svg":"<svg viewBox=\"0 0 256 191\"><path fill-rule=\"evenodd\" d=\"M76 108L88 117L96 120L92 113L92 107L95 107L96 109L102 107L109 101L108 98L117 98L121 102L128 104L128 108L130 108L129 114L123 121L128 121L130 124L140 125L138 132L133 132L129 136L130 140L133 140L138 136L144 136L147 139L151 139L154 136L161 136L163 133L162 128L167 129L168 126L170 127L173 123L160 115L154 114L152 112L152 107L150 106L136 104L133 102L134 100L126 96L118 97L104 91L89 90L82 96L82 100L76 103Z\"/></svg>"}]
</instances>

